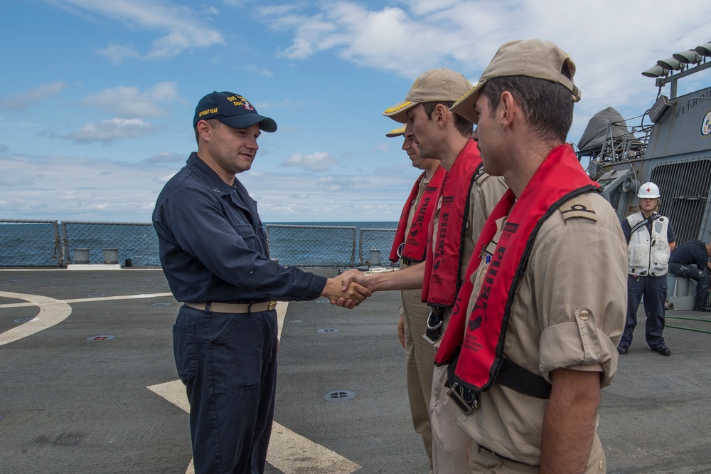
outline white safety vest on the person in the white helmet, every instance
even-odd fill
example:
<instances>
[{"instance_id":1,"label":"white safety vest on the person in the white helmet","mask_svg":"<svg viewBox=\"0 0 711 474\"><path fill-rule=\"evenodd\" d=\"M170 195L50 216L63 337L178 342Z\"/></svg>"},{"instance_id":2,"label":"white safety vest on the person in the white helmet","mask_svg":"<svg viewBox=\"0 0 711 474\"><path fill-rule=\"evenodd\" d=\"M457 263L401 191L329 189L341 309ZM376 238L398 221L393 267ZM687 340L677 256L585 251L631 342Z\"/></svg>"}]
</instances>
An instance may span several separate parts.
<instances>
[{"instance_id":1,"label":"white safety vest on the person in the white helmet","mask_svg":"<svg viewBox=\"0 0 711 474\"><path fill-rule=\"evenodd\" d=\"M629 226L634 229L638 223L646 220L641 211L627 216ZM652 235L649 235L647 226L643 225L634 231L627 246L629 266L627 273L630 275L666 275L669 263L669 242L667 241L667 228L669 219L658 216L652 221Z\"/></svg>"}]
</instances>

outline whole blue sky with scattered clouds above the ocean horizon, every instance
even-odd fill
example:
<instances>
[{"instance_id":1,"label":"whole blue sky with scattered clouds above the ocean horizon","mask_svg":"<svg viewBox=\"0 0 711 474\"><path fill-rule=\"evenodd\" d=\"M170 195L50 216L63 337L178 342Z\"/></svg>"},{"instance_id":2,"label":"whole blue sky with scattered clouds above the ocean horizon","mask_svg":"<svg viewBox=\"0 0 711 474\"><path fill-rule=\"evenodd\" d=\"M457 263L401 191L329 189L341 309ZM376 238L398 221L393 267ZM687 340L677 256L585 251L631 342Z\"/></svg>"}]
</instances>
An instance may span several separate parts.
<instances>
[{"instance_id":1,"label":"whole blue sky with scattered clouds above the ocean horizon","mask_svg":"<svg viewBox=\"0 0 711 474\"><path fill-rule=\"evenodd\" d=\"M239 175L263 221L395 221L418 172L381 113L419 73L476 83L501 43L554 41L577 142L606 107L642 115L641 71L710 41L709 18L696 0L0 0L0 218L149 222L198 100L229 90L279 125Z\"/></svg>"}]
</instances>

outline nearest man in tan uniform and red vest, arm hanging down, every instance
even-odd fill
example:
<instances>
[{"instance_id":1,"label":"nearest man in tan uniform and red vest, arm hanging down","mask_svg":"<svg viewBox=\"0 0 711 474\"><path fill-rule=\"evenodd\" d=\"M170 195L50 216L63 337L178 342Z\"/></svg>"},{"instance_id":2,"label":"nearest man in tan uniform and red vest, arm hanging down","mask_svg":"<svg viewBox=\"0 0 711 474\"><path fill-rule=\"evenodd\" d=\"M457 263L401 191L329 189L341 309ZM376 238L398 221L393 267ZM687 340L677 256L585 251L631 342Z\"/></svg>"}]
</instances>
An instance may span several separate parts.
<instances>
[{"instance_id":1,"label":"nearest man in tan uniform and red vest, arm hanging down","mask_svg":"<svg viewBox=\"0 0 711 474\"><path fill-rule=\"evenodd\" d=\"M553 43L511 41L452 107L478 124L486 171L510 186L467 270L466 311L453 315L435 359L461 347L451 396L471 473L606 470L597 410L624 328L626 246L565 144L574 72Z\"/></svg>"}]
</instances>

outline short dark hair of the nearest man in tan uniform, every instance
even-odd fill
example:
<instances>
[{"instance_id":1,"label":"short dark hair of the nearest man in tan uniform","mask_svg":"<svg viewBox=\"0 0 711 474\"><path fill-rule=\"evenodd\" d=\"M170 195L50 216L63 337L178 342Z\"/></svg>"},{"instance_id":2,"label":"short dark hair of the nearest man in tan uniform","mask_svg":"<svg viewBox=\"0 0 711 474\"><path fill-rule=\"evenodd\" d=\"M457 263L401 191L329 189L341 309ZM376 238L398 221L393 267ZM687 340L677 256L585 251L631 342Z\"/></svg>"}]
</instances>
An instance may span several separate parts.
<instances>
[{"instance_id":1,"label":"short dark hair of the nearest man in tan uniform","mask_svg":"<svg viewBox=\"0 0 711 474\"><path fill-rule=\"evenodd\" d=\"M523 111L523 117L542 139L565 142L573 122L573 100L570 90L550 80L512 75L489 79L481 93L490 102L491 117L496 113L501 94L507 91Z\"/></svg>"}]
</instances>

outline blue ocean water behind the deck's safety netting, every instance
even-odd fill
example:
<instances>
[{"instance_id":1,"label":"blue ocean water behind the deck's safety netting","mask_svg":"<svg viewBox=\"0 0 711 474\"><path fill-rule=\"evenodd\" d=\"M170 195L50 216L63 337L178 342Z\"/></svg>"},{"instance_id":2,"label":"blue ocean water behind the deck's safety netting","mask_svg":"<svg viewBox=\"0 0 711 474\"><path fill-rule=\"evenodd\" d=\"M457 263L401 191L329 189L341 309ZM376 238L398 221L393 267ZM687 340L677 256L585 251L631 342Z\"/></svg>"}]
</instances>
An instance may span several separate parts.
<instances>
[{"instance_id":1,"label":"blue ocean water behind the deck's safety netting","mask_svg":"<svg viewBox=\"0 0 711 474\"><path fill-rule=\"evenodd\" d=\"M282 265L389 265L396 221L265 223L269 251ZM353 229L355 228L355 230ZM89 251L90 263L104 263L103 249L117 249L122 265L160 266L158 238L150 223L0 222L0 267L73 263L74 249ZM378 256L380 262L370 262ZM130 262L129 262L130 260Z\"/></svg>"}]
</instances>

